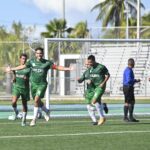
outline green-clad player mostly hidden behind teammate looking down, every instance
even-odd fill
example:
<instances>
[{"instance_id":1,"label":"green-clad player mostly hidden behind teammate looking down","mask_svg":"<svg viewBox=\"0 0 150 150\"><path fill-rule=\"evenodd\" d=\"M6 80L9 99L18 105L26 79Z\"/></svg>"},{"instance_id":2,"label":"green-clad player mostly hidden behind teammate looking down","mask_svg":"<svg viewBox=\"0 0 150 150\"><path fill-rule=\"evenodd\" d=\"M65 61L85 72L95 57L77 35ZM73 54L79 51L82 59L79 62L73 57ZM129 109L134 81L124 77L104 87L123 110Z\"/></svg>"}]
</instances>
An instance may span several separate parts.
<instances>
[{"instance_id":1,"label":"green-clad player mostly hidden behind teammate looking down","mask_svg":"<svg viewBox=\"0 0 150 150\"><path fill-rule=\"evenodd\" d=\"M85 91L85 101L87 103L87 110L93 121L93 125L97 125L97 119L95 116L95 106L91 104L92 97L94 96L95 86L90 80L90 66L88 65L87 60L85 61L85 66L87 68L86 71L77 80L79 83L82 83L83 81L86 82L87 89ZM108 107L106 103L103 103L103 109L105 113L108 113Z\"/></svg>"}]
</instances>

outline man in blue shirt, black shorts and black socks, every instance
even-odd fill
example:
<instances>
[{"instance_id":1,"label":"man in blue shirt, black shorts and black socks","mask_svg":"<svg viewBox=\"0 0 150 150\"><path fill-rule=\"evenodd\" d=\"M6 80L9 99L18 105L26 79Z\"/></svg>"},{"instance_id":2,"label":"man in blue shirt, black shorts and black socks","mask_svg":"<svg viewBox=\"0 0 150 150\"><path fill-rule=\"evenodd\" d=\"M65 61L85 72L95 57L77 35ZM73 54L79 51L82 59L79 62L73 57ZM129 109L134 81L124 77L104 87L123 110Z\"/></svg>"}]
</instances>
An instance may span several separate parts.
<instances>
[{"instance_id":1,"label":"man in blue shirt, black shorts and black socks","mask_svg":"<svg viewBox=\"0 0 150 150\"><path fill-rule=\"evenodd\" d=\"M134 84L140 82L140 79L134 78L135 62L133 58L128 59L128 66L125 68L123 73L123 93L125 98L124 104L124 121L125 122L139 122L133 117L135 97L134 97ZM128 117L129 112L129 117Z\"/></svg>"}]
</instances>

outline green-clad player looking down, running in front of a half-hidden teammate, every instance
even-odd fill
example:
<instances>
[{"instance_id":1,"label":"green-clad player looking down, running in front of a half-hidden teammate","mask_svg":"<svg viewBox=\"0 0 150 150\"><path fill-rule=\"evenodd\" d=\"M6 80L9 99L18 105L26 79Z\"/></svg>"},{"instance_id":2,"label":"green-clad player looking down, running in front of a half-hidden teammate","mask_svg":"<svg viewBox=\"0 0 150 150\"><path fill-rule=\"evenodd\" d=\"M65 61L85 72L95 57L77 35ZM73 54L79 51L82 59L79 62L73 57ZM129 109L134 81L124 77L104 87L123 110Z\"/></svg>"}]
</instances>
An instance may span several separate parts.
<instances>
[{"instance_id":1,"label":"green-clad player looking down, running in front of a half-hidden teammate","mask_svg":"<svg viewBox=\"0 0 150 150\"><path fill-rule=\"evenodd\" d=\"M102 125L106 121L106 118L103 114L101 97L105 92L106 82L108 81L110 74L104 65L95 61L95 56L93 55L88 57L88 65L90 66L90 79L95 86L94 96L92 97L92 104L95 105L100 117L98 125Z\"/></svg>"}]
</instances>

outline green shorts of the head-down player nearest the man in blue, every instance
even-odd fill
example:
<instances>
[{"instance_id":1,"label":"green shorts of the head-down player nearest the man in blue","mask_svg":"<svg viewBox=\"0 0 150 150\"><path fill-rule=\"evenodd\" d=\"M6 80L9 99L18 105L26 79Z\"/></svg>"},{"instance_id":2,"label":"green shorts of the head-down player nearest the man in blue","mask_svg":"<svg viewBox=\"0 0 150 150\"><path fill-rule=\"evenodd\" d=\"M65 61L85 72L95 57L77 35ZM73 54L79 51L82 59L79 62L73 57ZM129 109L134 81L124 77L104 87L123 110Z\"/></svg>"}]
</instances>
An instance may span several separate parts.
<instances>
[{"instance_id":1,"label":"green shorts of the head-down player nearest the man in blue","mask_svg":"<svg viewBox=\"0 0 150 150\"><path fill-rule=\"evenodd\" d=\"M105 92L105 88L97 87L95 88L94 95L92 99L95 99L97 102L101 102L101 97Z\"/></svg>"}]
</instances>

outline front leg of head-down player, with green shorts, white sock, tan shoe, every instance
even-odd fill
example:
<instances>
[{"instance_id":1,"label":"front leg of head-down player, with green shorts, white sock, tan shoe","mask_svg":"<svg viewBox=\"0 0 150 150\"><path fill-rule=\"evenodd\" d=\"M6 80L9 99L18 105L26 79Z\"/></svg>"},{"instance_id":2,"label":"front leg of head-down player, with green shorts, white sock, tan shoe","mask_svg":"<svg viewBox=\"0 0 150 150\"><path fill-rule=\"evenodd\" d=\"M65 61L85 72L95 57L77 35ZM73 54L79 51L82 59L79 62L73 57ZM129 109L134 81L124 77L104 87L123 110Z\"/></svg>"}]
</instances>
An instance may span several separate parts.
<instances>
[{"instance_id":1,"label":"front leg of head-down player, with green shorts, white sock, tan shoe","mask_svg":"<svg viewBox=\"0 0 150 150\"><path fill-rule=\"evenodd\" d=\"M98 125L102 125L106 121L106 118L103 113L103 105L101 104L101 97L104 94L104 91L105 91L105 88L97 87L95 89L95 93L92 98L92 102L94 102L97 113L99 115Z\"/></svg>"}]
</instances>

